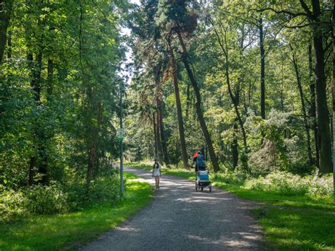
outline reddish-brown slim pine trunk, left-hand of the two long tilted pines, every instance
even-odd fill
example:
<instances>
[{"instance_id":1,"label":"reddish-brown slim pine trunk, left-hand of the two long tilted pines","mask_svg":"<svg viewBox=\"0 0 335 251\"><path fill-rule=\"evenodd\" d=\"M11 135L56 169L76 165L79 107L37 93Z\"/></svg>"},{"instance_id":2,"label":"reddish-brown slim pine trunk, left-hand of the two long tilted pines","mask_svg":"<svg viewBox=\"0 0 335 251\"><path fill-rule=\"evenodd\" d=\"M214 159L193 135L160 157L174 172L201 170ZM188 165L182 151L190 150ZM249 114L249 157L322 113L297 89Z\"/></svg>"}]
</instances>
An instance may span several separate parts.
<instances>
[{"instance_id":1,"label":"reddish-brown slim pine trunk, left-hand of the two long tilted pines","mask_svg":"<svg viewBox=\"0 0 335 251\"><path fill-rule=\"evenodd\" d=\"M189 168L189 163L187 161L185 134L184 134L184 122L182 121L182 104L180 103L177 65L175 62L175 55L173 53L173 49L170 44L170 41L169 41L169 47L170 47L170 62L172 66L173 86L175 88L175 99L176 99L176 107L177 107L178 128L179 128L179 135L180 135L180 148L181 148L180 150L182 152L182 163L184 165L184 168Z\"/></svg>"}]
</instances>

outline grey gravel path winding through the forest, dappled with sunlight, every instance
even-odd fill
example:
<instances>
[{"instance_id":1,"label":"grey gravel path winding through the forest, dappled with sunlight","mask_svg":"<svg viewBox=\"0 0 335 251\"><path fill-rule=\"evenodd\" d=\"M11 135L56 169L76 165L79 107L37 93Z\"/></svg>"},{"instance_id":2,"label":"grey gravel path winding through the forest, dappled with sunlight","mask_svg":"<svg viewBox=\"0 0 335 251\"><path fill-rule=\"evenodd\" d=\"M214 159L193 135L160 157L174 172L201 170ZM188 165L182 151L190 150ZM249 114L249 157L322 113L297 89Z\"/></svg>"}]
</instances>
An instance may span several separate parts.
<instances>
[{"instance_id":1,"label":"grey gravel path winding through the forest, dappled with sunlight","mask_svg":"<svg viewBox=\"0 0 335 251\"><path fill-rule=\"evenodd\" d=\"M146 170L125 170L155 183ZM215 187L195 192L191 180L163 175L151 204L82 250L260 250L253 206Z\"/></svg>"}]
</instances>

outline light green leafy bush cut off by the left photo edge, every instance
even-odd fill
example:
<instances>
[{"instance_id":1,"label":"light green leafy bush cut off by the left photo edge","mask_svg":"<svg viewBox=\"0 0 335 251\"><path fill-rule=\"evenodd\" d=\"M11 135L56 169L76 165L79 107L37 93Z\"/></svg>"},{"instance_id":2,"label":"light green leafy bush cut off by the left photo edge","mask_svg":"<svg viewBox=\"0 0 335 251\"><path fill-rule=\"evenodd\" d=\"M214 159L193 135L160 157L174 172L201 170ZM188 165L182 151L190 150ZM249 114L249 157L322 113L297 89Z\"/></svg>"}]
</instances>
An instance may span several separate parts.
<instances>
[{"instance_id":1,"label":"light green leafy bush cut off by the left photo edge","mask_svg":"<svg viewBox=\"0 0 335 251\"><path fill-rule=\"evenodd\" d=\"M5 189L0 185L0 222L16 220L19 217L28 215L28 199L22 192L13 189Z\"/></svg>"}]
</instances>

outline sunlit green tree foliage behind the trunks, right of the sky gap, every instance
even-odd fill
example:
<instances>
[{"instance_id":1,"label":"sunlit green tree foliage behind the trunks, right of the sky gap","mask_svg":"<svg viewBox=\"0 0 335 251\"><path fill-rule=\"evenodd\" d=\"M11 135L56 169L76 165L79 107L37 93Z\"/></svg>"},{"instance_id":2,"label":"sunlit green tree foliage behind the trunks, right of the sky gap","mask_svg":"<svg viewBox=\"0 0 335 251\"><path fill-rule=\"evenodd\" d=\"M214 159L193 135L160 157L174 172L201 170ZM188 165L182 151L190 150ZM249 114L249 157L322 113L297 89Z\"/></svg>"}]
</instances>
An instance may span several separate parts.
<instances>
[{"instance_id":1,"label":"sunlit green tree foliage behind the trunks, right of the sky gap","mask_svg":"<svg viewBox=\"0 0 335 251\"><path fill-rule=\"evenodd\" d=\"M329 18L329 3L327 1L321 4L322 18ZM285 4L278 1L259 2L256 6L304 11L299 3L290 1ZM238 168L248 165L249 171L256 177L274 170L299 174L311 174L315 170L317 135L314 127L317 125L316 117L312 114L315 105L315 93L312 92L315 78L310 68L315 56L313 51L309 54L308 50L309 45L312 45L312 30L309 25L295 29L285 26L307 24L307 20L300 16L290 19L289 15L269 9L255 11L254 4L235 0L211 4L197 4L195 1L144 1L134 13L137 16L131 20L130 27L136 40L136 43L131 42L136 71L129 91L130 103L134 99L141 103L141 97L145 93L146 104L153 112L155 105L153 101L148 102L150 97L156 95L152 84L152 66L158 61L168 60L166 38L169 35L172 47L177 52L176 57L181 56L179 42L174 35L175 31L180 30L187 47L187 57L201 89L201 105L206 124L221 163L229 165L233 170L236 168L233 166L233 159L237 158ZM262 18L262 42L265 50L266 119L261 119L260 116L259 18ZM154 19L156 22L153 22ZM147 25L143 25L145 21L148 21ZM188 22L192 22L192 25ZM330 30L326 27L324 39L331 42ZM293 53L298 62L302 98L292 62ZM327 54L331 55L331 47L327 47L327 52L324 52L324 55ZM311 66L309 57L312 57ZM330 66L330 61L327 61L326 68ZM180 142L169 66L165 68L165 71L158 73L162 84L159 95L164 103L165 144L170 163L175 164L180 161ZM190 157L194 151L205 148L204 136L194 109L194 90L189 87L187 73L180 62L177 62L177 77L187 154ZM326 86L330 79L327 78ZM233 98L230 97L228 81ZM305 107L306 118L302 106ZM237 119L237 111L240 113L240 121ZM153 158L155 155L153 119L146 117L144 121L139 116L143 115L143 109L141 112L129 114L129 126L136 125L136 134L131 133L131 138L127 140L131 150L136 151L136 158L131 158L132 160ZM148 113L150 114L146 110L146 115ZM245 127L245 136L242 134L242 127ZM306 128L310 136L307 136ZM235 146L237 151L234 150ZM234 156L236 154L238 156Z\"/></svg>"}]
</instances>

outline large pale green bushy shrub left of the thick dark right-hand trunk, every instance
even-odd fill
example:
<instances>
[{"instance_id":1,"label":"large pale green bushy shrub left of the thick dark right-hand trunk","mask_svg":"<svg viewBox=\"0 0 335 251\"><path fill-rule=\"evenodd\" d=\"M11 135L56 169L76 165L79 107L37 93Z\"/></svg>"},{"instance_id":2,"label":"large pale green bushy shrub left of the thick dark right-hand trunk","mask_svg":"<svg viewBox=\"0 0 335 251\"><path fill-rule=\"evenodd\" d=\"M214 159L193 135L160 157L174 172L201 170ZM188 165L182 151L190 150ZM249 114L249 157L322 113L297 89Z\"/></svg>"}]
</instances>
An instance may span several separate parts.
<instances>
[{"instance_id":1,"label":"large pale green bushy shrub left of the thick dark right-hand trunk","mask_svg":"<svg viewBox=\"0 0 335 251\"><path fill-rule=\"evenodd\" d=\"M274 170L311 173L305 134L296 130L301 123L291 112L271 110L268 119L249 114L245 126L249 131L249 170L254 177Z\"/></svg>"}]
</instances>

